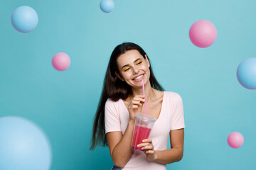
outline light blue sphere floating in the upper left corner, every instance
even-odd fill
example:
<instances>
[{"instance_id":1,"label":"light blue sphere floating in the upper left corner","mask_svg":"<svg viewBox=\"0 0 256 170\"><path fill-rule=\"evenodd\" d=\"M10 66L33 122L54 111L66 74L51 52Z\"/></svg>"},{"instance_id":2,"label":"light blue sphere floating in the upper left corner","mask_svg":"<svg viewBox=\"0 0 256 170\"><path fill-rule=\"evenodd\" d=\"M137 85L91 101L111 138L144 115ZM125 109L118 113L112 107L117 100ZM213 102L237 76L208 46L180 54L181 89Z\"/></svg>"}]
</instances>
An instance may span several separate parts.
<instances>
[{"instance_id":1,"label":"light blue sphere floating in the upper left corner","mask_svg":"<svg viewBox=\"0 0 256 170\"><path fill-rule=\"evenodd\" d=\"M11 15L11 24L21 33L28 33L38 24L38 14L30 6L19 6Z\"/></svg>"}]
</instances>

